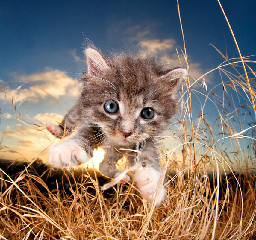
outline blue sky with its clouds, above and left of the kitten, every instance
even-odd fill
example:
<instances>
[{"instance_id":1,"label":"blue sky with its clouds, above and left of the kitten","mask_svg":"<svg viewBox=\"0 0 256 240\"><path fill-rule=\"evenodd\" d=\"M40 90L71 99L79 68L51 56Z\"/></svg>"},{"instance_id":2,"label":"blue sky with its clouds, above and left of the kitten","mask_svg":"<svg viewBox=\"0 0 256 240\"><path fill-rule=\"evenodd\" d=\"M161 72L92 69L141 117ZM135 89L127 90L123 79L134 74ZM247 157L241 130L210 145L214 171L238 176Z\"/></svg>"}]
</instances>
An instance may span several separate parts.
<instances>
[{"instance_id":1,"label":"blue sky with its clouds, above and left of the kitten","mask_svg":"<svg viewBox=\"0 0 256 240\"><path fill-rule=\"evenodd\" d=\"M238 57L217 1L179 4L191 74L195 78L224 61L210 43L224 54L227 47L228 57ZM221 4L242 55L255 54L256 1L225 0ZM85 67L85 37L104 53L112 49L147 49L169 60L175 48L183 48L177 1L1 1L0 84L14 80L33 82L66 108L71 107L78 89L74 79ZM220 83L220 78L215 77L215 73L208 76L208 89ZM5 91L15 95L21 119L44 124L47 118L60 120L65 114L42 91L28 84L15 90L19 85L14 83ZM11 99L5 99L4 93L1 101L3 144L19 151L29 148L30 155L25 154L26 157L35 156L38 148L47 146L45 133L35 134L24 123L11 118ZM38 148L33 145L35 142ZM7 155L4 157L13 158Z\"/></svg>"}]
</instances>

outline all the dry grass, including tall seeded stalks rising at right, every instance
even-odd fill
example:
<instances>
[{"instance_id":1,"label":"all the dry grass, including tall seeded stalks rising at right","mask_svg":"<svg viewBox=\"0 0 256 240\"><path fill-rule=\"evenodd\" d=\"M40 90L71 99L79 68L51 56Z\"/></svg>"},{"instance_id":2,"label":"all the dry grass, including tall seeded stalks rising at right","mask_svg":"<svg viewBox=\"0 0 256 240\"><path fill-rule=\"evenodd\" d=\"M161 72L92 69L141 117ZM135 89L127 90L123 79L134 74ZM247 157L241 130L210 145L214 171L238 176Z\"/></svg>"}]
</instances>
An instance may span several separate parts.
<instances>
[{"instance_id":1,"label":"all the dry grass, including tall seeded stalks rising at right","mask_svg":"<svg viewBox=\"0 0 256 240\"><path fill-rule=\"evenodd\" d=\"M165 138L174 148L162 146L160 206L132 182L102 192L85 169L54 178L34 164L10 165L0 171L0 238L256 239L256 61L222 56L216 69L183 84L180 116ZM205 80L218 71L220 84ZM206 91L207 84L214 86Z\"/></svg>"}]
</instances>

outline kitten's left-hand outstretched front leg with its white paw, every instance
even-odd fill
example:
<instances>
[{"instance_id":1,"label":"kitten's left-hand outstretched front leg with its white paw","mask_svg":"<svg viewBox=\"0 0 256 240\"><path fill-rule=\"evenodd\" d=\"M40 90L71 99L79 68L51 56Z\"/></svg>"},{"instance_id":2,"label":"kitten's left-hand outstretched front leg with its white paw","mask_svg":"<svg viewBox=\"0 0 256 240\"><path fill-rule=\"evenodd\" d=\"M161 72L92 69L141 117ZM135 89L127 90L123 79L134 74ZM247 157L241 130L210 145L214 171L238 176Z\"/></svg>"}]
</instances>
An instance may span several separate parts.
<instances>
[{"instance_id":1,"label":"kitten's left-hand outstretched front leg with its white paw","mask_svg":"<svg viewBox=\"0 0 256 240\"><path fill-rule=\"evenodd\" d=\"M93 155L88 132L92 133L93 130L80 127L72 138L63 139L53 145L49 151L48 162L59 167L75 167L87 162Z\"/></svg>"}]
</instances>

